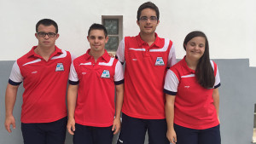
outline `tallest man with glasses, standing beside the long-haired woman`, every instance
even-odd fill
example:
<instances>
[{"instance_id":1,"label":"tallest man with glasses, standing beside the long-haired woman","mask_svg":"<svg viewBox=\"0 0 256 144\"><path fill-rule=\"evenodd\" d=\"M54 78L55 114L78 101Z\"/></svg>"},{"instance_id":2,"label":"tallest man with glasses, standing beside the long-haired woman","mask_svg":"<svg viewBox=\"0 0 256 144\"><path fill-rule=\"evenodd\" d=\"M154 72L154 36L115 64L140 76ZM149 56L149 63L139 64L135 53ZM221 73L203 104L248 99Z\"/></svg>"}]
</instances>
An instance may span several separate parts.
<instances>
[{"instance_id":1,"label":"tallest man with glasses, standing beside the long-haired woman","mask_svg":"<svg viewBox=\"0 0 256 144\"><path fill-rule=\"evenodd\" d=\"M139 34L125 37L119 43L117 57L125 62L119 144L143 144L147 130L149 143L170 143L166 138L165 95L162 89L167 67L176 63L176 56L172 41L155 33L159 23L158 7L151 2L143 3L137 10Z\"/></svg>"}]
</instances>

